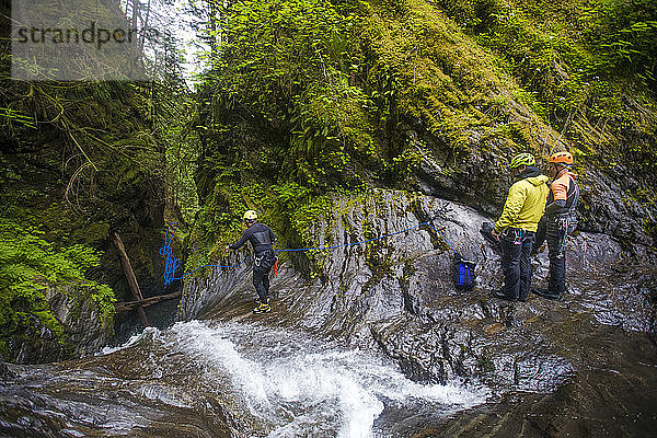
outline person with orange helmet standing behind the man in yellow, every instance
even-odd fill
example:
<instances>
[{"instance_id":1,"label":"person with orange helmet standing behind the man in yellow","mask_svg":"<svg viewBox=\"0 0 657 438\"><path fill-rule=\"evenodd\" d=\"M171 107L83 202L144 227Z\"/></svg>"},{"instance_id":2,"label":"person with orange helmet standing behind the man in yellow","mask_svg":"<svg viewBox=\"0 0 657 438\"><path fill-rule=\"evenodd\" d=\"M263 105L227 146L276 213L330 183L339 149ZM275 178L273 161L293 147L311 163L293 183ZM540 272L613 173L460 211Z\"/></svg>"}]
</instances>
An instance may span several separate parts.
<instances>
[{"instance_id":1,"label":"person with orange helmet standing behind the man in yellow","mask_svg":"<svg viewBox=\"0 0 657 438\"><path fill-rule=\"evenodd\" d=\"M560 299L566 290L566 237L577 227L575 209L579 201L579 185L575 173L570 152L555 152L548 159L550 194L545 206L545 215L539 222L537 239L532 254L537 254L543 242L548 241L550 253L550 279L548 289L534 289L533 292L549 299Z\"/></svg>"}]
</instances>

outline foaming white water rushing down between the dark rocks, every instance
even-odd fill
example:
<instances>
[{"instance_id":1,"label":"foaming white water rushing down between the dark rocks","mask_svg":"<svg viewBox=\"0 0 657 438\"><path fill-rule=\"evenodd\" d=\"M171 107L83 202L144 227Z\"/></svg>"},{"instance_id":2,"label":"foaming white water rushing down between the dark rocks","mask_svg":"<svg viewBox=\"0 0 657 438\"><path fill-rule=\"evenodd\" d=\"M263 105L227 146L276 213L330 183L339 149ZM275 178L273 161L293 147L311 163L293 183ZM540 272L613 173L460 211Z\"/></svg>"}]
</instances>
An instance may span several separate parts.
<instances>
[{"instance_id":1,"label":"foaming white water rushing down between the dark rocks","mask_svg":"<svg viewBox=\"0 0 657 438\"><path fill-rule=\"evenodd\" d=\"M376 427L387 407L435 410L438 416L484 403L487 395L457 382L419 384L381 356L258 324L177 323L160 341L203 369L206 390L231 389L222 399L243 423L244 430L235 430L243 436L253 424L265 424L272 438L390 436Z\"/></svg>"}]
</instances>

